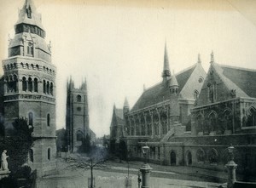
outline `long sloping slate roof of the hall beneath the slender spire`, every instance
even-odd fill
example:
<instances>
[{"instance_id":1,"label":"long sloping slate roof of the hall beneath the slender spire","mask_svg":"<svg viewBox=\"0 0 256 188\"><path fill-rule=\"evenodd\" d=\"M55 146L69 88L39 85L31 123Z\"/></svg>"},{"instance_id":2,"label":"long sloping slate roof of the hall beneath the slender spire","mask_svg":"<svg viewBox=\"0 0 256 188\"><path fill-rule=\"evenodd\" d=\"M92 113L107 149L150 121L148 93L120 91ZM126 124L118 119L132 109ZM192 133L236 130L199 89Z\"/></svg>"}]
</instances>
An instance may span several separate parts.
<instances>
[{"instance_id":1,"label":"long sloping slate roof of the hall beneath the slender spire","mask_svg":"<svg viewBox=\"0 0 256 188\"><path fill-rule=\"evenodd\" d=\"M176 79L180 91L183 89L185 83L187 83L192 72L195 70L195 67L196 64L176 74ZM131 111L137 111L150 105L160 103L164 100L168 100L170 98L169 84L171 79L168 79L165 83L158 83L152 88L145 90L141 97L137 100L136 104L132 107Z\"/></svg>"}]
</instances>

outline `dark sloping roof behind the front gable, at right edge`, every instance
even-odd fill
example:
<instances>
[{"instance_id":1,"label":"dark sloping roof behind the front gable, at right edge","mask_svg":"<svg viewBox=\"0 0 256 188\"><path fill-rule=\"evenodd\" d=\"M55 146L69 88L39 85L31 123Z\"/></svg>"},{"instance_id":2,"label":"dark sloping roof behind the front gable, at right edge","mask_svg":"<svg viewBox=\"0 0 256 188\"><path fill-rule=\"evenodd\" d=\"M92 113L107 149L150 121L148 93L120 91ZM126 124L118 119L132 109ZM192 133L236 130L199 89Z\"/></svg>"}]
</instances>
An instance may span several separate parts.
<instances>
[{"instance_id":1,"label":"dark sloping roof behind the front gable, at right edge","mask_svg":"<svg viewBox=\"0 0 256 188\"><path fill-rule=\"evenodd\" d=\"M228 77L237 87L241 88L248 96L256 97L256 70L234 66L222 66L223 74Z\"/></svg>"}]
</instances>

